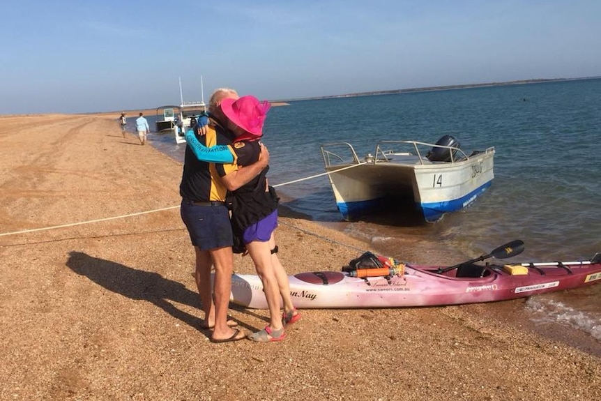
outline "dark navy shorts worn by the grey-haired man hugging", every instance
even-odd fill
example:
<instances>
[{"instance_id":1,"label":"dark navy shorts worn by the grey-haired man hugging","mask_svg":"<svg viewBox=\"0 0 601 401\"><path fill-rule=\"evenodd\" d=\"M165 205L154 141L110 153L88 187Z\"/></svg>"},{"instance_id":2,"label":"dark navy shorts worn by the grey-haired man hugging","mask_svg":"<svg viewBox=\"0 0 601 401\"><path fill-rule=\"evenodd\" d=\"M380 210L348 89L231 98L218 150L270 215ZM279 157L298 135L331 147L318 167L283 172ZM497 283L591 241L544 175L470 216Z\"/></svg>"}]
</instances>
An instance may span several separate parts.
<instances>
[{"instance_id":1,"label":"dark navy shorts worn by the grey-haired man hugging","mask_svg":"<svg viewBox=\"0 0 601 401\"><path fill-rule=\"evenodd\" d=\"M234 244L229 211L225 204L197 206L192 202L182 201L180 213L192 245L201 250L211 250Z\"/></svg>"}]
</instances>

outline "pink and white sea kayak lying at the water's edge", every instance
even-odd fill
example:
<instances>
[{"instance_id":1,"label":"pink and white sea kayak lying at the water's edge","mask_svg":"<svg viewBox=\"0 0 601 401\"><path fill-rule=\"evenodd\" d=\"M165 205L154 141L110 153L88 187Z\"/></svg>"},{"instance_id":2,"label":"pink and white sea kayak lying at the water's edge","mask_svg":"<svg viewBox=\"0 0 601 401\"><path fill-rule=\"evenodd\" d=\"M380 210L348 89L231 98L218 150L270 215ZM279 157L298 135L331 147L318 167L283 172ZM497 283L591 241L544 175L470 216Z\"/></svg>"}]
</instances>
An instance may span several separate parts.
<instances>
[{"instance_id":1,"label":"pink and white sea kayak lying at the water's edge","mask_svg":"<svg viewBox=\"0 0 601 401\"><path fill-rule=\"evenodd\" d=\"M345 271L314 271L289 276L296 308L406 308L504 301L601 282L601 254L577 262L478 264L483 259L512 257L524 249L516 240L489 255L455 266L399 264L378 257L374 263L346 266ZM366 252L370 254L370 252ZM374 260L373 254L371 260ZM363 255L365 257L365 255ZM369 258L367 258L369 259ZM363 264L363 266L362 266ZM373 265L376 266L373 266ZM266 309L257 275L234 274L231 301Z\"/></svg>"}]
</instances>

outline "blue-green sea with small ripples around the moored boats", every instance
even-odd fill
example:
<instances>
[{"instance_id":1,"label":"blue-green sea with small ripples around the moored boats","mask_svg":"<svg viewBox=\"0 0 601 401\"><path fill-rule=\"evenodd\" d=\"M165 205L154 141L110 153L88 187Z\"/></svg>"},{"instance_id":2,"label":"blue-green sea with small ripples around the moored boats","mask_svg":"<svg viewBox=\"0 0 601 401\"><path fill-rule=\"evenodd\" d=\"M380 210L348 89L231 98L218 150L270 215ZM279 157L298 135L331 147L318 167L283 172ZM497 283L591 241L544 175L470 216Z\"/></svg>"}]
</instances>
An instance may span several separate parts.
<instances>
[{"instance_id":1,"label":"blue-green sea with small ripples around the moored boats","mask_svg":"<svg viewBox=\"0 0 601 401\"><path fill-rule=\"evenodd\" d=\"M494 146L495 179L468 209L436 223L395 215L342 222L325 176L281 185L324 172L320 144L349 142L365 156L379 139L434 143L447 134L468 154ZM151 139L183 160L184 147L172 135ZM513 239L526 250L510 262L573 261L601 252L600 142L601 79L294 101L271 109L264 136L270 183L285 206L365 239L383 255L449 265ZM598 285L534 296L523 308L535 323L551 321L601 343L600 301Z\"/></svg>"}]
</instances>

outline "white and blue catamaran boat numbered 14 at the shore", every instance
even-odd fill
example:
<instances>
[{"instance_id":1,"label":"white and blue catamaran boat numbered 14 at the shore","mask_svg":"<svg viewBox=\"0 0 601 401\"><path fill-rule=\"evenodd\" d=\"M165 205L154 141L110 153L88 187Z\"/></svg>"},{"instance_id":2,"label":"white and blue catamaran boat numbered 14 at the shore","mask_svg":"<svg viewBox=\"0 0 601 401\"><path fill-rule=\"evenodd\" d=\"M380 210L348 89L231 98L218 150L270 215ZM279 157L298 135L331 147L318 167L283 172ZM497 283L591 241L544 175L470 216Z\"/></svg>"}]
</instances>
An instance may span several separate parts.
<instances>
[{"instance_id":1,"label":"white and blue catamaran boat numbered 14 at the shore","mask_svg":"<svg viewBox=\"0 0 601 401\"><path fill-rule=\"evenodd\" d=\"M321 154L336 205L346 220L388 205L405 211L409 205L427 222L435 222L444 213L471 204L494 178L494 147L468 156L450 135L436 144L382 140L374 154L363 159L347 142L321 145Z\"/></svg>"}]
</instances>

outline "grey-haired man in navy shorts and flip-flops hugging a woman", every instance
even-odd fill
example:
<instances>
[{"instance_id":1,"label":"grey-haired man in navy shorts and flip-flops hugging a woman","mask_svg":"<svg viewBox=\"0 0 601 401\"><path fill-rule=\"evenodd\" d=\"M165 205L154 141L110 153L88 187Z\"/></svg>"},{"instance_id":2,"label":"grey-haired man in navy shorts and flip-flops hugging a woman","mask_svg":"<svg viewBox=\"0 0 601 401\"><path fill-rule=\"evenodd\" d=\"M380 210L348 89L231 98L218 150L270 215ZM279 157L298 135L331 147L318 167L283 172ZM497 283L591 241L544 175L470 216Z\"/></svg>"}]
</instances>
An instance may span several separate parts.
<instances>
[{"instance_id":1,"label":"grey-haired man in navy shorts and flip-flops hugging a woman","mask_svg":"<svg viewBox=\"0 0 601 401\"><path fill-rule=\"evenodd\" d=\"M233 139L225 124L221 122L225 119L219 105L226 98L238 98L238 93L233 89L217 89L209 100L211 126L206 128L206 135L200 139L206 146L227 145ZM230 177L229 185L232 188L248 183L268 165L268 151L265 149L261 154L259 161L238 169L236 174ZM234 321L227 321L231 273L234 270L234 254L231 250L234 240L229 210L225 205L226 193L227 189L220 181L215 165L197 160L190 146L186 146L180 184L181 218L195 248L195 278L205 314L203 326L214 328L211 335L213 342L245 338L243 331L230 327L234 326ZM213 289L211 265L215 266Z\"/></svg>"}]
</instances>

